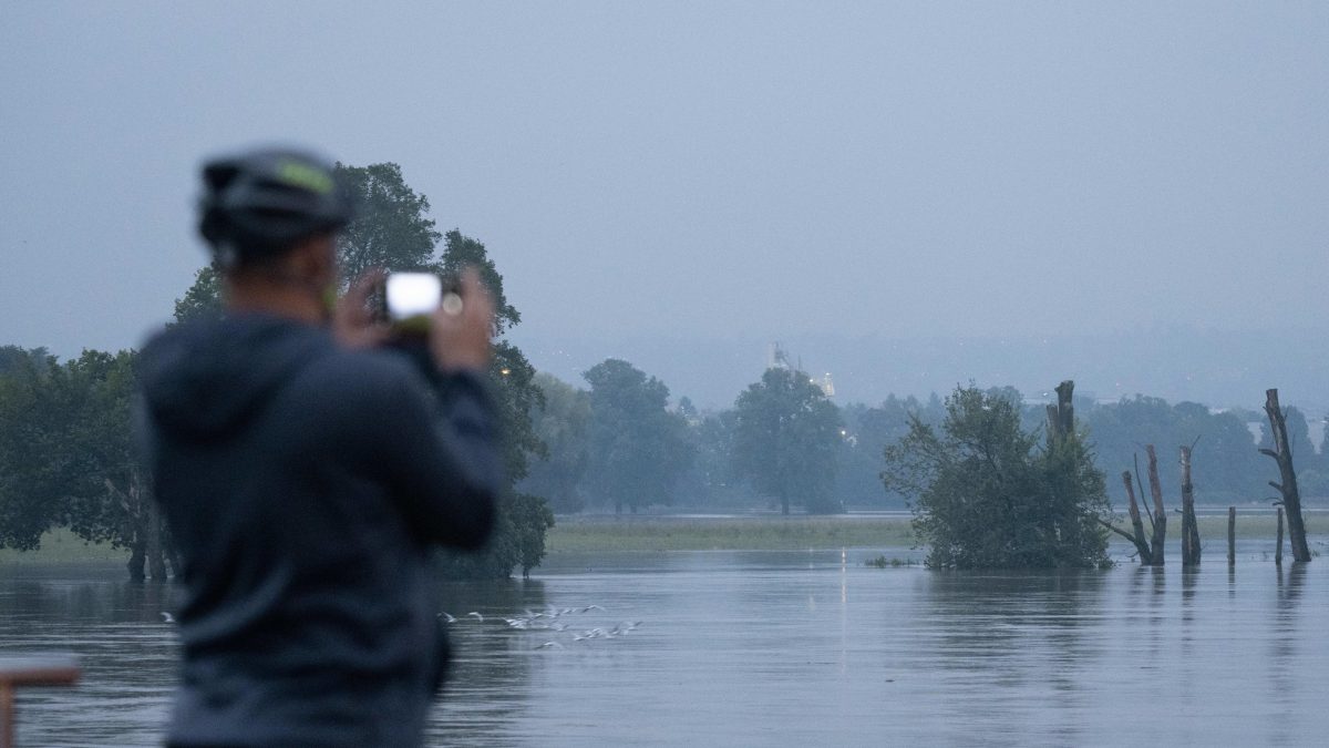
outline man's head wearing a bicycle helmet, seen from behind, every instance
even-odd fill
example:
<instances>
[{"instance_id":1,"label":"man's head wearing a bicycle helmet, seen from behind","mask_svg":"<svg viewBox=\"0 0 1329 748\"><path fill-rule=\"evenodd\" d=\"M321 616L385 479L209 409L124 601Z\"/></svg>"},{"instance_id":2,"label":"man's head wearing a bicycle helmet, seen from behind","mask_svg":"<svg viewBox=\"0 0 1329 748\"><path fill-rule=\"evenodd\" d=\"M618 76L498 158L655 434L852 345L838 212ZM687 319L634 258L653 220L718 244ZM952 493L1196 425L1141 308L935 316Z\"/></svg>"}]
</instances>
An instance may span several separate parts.
<instances>
[{"instance_id":1,"label":"man's head wearing a bicycle helmet, seen from behind","mask_svg":"<svg viewBox=\"0 0 1329 748\"><path fill-rule=\"evenodd\" d=\"M254 149L203 165L198 230L229 303L318 309L336 283L335 237L351 217L332 165L311 153Z\"/></svg>"}]
</instances>

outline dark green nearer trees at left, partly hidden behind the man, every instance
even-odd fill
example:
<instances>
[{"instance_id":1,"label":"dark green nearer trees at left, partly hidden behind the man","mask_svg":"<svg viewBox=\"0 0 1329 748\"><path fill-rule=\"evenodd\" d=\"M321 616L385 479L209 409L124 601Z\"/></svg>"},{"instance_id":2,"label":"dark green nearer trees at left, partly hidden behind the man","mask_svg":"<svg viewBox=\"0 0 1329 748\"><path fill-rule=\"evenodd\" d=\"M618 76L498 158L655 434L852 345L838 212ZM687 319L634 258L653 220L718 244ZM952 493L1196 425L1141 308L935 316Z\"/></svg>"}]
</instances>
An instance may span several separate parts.
<instances>
[{"instance_id":1,"label":"dark green nearer trees at left, partly hidden behind the man","mask_svg":"<svg viewBox=\"0 0 1329 748\"><path fill-rule=\"evenodd\" d=\"M530 413L542 406L536 370L504 334L521 314L504 294L502 276L485 245L460 230L441 233L429 201L412 190L396 164L336 170L360 210L338 238L344 281L369 268L456 273L478 269L494 299L490 381L504 433L504 462L513 484L533 457L545 454ZM171 323L222 314L221 281L206 265L175 301ZM85 350L60 362L45 349L0 349L0 547L33 550L52 527L130 552L130 576L165 578L173 546L152 500L144 451L132 443L137 351ZM444 574L508 576L540 564L554 518L540 496L509 490L497 528L480 552L441 559Z\"/></svg>"}]
</instances>

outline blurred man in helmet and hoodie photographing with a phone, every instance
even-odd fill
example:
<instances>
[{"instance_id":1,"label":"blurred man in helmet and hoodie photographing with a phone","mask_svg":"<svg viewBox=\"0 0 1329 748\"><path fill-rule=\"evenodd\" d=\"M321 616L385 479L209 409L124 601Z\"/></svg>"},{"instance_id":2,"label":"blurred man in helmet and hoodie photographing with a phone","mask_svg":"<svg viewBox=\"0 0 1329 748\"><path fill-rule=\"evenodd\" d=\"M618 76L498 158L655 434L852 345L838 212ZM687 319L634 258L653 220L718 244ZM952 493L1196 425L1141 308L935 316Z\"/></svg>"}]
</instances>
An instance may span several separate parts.
<instances>
[{"instance_id":1,"label":"blurred man in helmet and hoodie photographing with a phone","mask_svg":"<svg viewBox=\"0 0 1329 748\"><path fill-rule=\"evenodd\" d=\"M316 156L203 168L226 313L157 335L140 370L185 587L169 745L423 739L447 663L429 552L482 544L504 484L482 379L493 306L466 273L425 355L385 346L373 278L335 302L351 217Z\"/></svg>"}]
</instances>

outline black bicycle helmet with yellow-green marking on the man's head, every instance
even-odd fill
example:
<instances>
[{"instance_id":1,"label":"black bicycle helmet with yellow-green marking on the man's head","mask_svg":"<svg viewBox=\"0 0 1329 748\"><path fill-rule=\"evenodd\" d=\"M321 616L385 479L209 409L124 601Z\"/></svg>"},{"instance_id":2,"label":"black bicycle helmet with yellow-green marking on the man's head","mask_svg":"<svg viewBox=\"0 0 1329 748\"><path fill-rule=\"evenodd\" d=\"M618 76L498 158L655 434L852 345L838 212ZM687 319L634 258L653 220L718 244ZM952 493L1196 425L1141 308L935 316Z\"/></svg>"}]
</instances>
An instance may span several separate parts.
<instances>
[{"instance_id":1,"label":"black bicycle helmet with yellow-green marking on the man's head","mask_svg":"<svg viewBox=\"0 0 1329 748\"><path fill-rule=\"evenodd\" d=\"M203 165L198 232L223 266L336 232L352 216L332 164L312 153L256 149Z\"/></svg>"}]
</instances>

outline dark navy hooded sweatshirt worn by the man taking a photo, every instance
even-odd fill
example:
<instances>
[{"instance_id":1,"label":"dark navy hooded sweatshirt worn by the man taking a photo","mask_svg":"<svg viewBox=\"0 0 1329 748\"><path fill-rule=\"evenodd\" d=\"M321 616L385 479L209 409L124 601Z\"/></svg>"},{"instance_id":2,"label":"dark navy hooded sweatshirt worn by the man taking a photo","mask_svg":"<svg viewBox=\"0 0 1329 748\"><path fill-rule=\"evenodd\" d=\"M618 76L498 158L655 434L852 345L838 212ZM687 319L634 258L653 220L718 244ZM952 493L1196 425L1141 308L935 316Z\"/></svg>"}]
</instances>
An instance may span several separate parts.
<instances>
[{"instance_id":1,"label":"dark navy hooded sweatshirt worn by the man taking a photo","mask_svg":"<svg viewBox=\"0 0 1329 748\"><path fill-rule=\"evenodd\" d=\"M158 335L141 381L186 590L169 743L419 744L428 552L481 544L502 483L481 381L264 315Z\"/></svg>"}]
</instances>

